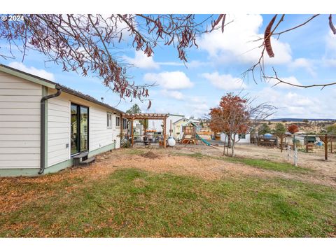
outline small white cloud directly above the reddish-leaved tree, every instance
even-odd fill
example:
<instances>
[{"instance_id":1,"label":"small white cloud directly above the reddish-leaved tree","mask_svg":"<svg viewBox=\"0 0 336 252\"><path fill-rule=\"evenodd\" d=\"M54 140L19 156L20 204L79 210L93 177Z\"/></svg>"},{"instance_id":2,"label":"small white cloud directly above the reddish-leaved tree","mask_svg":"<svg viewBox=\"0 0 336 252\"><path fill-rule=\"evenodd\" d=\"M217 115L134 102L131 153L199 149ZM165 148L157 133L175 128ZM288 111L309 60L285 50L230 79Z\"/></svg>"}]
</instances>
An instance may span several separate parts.
<instances>
[{"instance_id":1,"label":"small white cloud directly above the reddish-leaved tree","mask_svg":"<svg viewBox=\"0 0 336 252\"><path fill-rule=\"evenodd\" d=\"M246 87L241 78L232 77L231 74L202 73L202 77L209 80L215 87L223 90L237 90Z\"/></svg>"}]
</instances>

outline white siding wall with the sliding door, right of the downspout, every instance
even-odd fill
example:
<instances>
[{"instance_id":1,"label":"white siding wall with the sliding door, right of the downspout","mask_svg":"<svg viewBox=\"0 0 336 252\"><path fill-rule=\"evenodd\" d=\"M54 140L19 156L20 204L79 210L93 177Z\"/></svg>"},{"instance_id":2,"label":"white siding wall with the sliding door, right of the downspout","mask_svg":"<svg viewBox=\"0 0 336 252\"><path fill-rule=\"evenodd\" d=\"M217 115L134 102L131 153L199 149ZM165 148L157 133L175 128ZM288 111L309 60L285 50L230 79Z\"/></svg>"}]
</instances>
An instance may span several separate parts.
<instances>
[{"instance_id":1,"label":"white siding wall with the sliding door, right of the downspout","mask_svg":"<svg viewBox=\"0 0 336 252\"><path fill-rule=\"evenodd\" d=\"M49 90L55 93L55 90ZM120 148L120 127L116 127L116 114L85 99L62 92L59 97L48 99L48 167L70 160L70 107L71 102L89 107L89 152L109 146ZM112 127L107 127L107 113L113 114ZM110 148L110 149L111 149Z\"/></svg>"}]
</instances>

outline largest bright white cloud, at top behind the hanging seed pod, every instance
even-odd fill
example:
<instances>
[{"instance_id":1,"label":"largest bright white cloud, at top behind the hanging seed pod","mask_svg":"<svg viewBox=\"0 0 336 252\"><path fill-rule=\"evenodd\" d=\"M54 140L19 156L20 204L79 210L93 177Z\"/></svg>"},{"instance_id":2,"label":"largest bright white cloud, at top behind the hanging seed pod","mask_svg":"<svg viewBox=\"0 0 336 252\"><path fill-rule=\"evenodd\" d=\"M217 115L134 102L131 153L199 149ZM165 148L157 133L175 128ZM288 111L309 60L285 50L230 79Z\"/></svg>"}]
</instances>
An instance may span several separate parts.
<instances>
[{"instance_id":1,"label":"largest bright white cloud, at top behind the hanging seed pod","mask_svg":"<svg viewBox=\"0 0 336 252\"><path fill-rule=\"evenodd\" d=\"M228 15L225 31L216 30L204 34L199 45L207 50L209 55L219 62L255 63L258 62L262 48L263 34L259 34L262 26L261 15ZM265 53L265 64L285 64L291 61L290 45L272 38L272 48L275 57L269 58Z\"/></svg>"}]
</instances>

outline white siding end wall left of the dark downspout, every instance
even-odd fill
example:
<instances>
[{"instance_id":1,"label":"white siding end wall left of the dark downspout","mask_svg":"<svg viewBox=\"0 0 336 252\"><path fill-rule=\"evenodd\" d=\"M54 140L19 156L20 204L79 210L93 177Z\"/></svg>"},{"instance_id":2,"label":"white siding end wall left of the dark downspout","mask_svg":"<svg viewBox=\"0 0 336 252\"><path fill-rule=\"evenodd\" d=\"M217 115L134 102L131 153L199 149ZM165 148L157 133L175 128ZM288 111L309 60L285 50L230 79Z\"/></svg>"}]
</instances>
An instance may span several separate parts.
<instances>
[{"instance_id":1,"label":"white siding end wall left of the dark downspout","mask_svg":"<svg viewBox=\"0 0 336 252\"><path fill-rule=\"evenodd\" d=\"M0 72L0 173L40 166L42 86Z\"/></svg>"}]
</instances>

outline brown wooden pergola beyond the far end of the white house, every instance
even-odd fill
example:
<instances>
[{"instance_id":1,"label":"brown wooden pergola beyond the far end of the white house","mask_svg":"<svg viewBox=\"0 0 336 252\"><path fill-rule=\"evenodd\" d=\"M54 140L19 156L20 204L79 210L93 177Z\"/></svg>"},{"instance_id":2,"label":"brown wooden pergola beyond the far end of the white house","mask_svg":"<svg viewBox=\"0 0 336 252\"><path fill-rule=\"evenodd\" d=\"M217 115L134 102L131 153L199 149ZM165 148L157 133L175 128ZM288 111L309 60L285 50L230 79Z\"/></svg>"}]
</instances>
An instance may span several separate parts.
<instances>
[{"instance_id":1,"label":"brown wooden pergola beyond the far end of the white house","mask_svg":"<svg viewBox=\"0 0 336 252\"><path fill-rule=\"evenodd\" d=\"M134 145L134 132L133 132L133 121L134 120L163 120L163 147L166 148L166 124L168 114L163 113L123 113L123 118L131 121L131 146ZM146 127L144 129L146 134Z\"/></svg>"}]
</instances>

